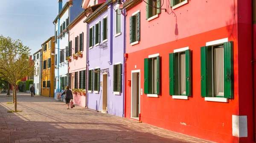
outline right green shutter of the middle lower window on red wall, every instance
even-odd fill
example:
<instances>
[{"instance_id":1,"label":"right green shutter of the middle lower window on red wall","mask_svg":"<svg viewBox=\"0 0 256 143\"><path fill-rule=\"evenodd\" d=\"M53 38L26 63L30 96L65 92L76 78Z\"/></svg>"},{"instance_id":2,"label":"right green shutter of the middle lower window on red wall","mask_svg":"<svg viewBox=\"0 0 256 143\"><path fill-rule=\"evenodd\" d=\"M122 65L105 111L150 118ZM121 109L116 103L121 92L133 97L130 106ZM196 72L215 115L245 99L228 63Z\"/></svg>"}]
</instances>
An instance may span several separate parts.
<instances>
[{"instance_id":1,"label":"right green shutter of the middle lower window on red wall","mask_svg":"<svg viewBox=\"0 0 256 143\"><path fill-rule=\"evenodd\" d=\"M186 95L191 96L190 49L185 50L186 60Z\"/></svg>"}]
</instances>

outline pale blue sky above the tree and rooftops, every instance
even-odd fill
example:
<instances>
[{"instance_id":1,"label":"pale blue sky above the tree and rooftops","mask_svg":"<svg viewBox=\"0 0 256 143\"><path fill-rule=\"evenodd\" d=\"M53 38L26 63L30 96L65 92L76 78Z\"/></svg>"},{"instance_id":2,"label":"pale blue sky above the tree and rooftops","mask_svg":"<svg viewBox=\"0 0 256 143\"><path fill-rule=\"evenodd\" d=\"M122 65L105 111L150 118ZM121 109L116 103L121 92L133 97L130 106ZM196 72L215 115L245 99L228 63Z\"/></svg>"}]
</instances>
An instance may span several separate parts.
<instances>
[{"instance_id":1,"label":"pale blue sky above the tree and rooftops","mask_svg":"<svg viewBox=\"0 0 256 143\"><path fill-rule=\"evenodd\" d=\"M68 0L63 0L62 6ZM33 55L54 36L58 0L0 0L0 35L20 39Z\"/></svg>"}]
</instances>

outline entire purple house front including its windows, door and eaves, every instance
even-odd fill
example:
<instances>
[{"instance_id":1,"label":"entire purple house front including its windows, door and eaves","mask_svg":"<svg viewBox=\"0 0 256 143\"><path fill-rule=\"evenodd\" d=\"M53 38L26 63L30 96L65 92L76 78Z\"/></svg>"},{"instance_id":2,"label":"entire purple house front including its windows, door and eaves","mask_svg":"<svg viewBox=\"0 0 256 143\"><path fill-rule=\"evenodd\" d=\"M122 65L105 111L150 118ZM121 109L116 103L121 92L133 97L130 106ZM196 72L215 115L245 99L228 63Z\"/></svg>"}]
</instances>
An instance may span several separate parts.
<instances>
[{"instance_id":1,"label":"entire purple house front including its windows, door and eaves","mask_svg":"<svg viewBox=\"0 0 256 143\"><path fill-rule=\"evenodd\" d=\"M123 117L125 17L115 10L111 1L99 4L84 20L87 22L87 105Z\"/></svg>"}]
</instances>

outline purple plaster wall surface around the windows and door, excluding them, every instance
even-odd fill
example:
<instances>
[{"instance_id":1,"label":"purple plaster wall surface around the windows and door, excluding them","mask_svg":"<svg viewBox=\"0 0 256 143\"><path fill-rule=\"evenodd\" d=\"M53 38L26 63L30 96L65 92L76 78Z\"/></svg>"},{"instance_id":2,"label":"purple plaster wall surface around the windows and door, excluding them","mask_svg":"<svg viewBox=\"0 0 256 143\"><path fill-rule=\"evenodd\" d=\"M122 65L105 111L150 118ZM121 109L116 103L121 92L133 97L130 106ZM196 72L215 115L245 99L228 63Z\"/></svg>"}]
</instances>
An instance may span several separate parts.
<instances>
[{"instance_id":1,"label":"purple plaster wall surface around the windows and door, excluding them","mask_svg":"<svg viewBox=\"0 0 256 143\"><path fill-rule=\"evenodd\" d=\"M108 15L108 41L107 46L102 43L102 25L103 18ZM99 17L88 24L88 29L91 26L95 26L99 20L101 21L101 41L98 46L88 49L89 51L89 67L88 69L95 69L99 67L101 70L108 69L108 114L117 115L123 117L124 114L124 85L122 82L121 95L113 94L113 64L122 63L122 80L124 79L124 17L121 16L121 35L116 36L116 13L112 8L112 4L108 6L108 11L102 13ZM87 43L89 43L89 35L87 36ZM103 47L100 45L104 45ZM100 48L101 47L101 48ZM87 45L87 48L89 46ZM100 75L100 81L103 80L103 75ZM99 93L88 93L88 108L102 110L102 87L100 87ZM101 97L100 97L101 96Z\"/></svg>"}]
</instances>

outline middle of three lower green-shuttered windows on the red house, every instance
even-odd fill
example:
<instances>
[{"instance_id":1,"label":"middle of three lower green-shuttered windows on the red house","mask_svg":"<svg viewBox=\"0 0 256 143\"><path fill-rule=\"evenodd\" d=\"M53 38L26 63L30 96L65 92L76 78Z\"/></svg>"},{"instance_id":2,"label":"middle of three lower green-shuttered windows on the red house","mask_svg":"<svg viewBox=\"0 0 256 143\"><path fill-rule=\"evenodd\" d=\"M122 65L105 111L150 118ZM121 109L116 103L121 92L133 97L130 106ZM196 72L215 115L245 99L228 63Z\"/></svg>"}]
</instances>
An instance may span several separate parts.
<instances>
[{"instance_id":1,"label":"middle of three lower green-shuttered windows on the red house","mask_svg":"<svg viewBox=\"0 0 256 143\"><path fill-rule=\"evenodd\" d=\"M169 95L190 96L190 50L169 54Z\"/></svg>"}]
</instances>

